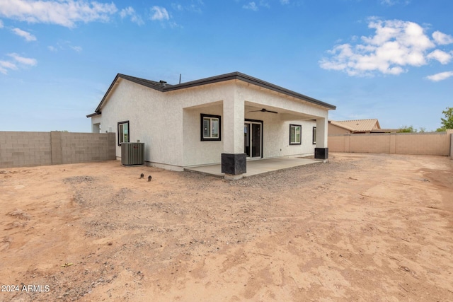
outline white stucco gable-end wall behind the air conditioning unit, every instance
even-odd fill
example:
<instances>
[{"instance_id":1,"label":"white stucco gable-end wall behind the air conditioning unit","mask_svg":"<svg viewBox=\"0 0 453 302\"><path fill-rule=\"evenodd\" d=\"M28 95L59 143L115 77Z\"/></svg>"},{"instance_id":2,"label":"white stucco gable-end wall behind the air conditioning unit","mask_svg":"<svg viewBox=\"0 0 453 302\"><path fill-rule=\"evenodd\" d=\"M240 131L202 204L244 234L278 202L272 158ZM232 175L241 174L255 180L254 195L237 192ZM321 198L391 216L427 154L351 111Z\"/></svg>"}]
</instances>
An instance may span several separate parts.
<instances>
[{"instance_id":1,"label":"white stucco gable-end wall behind the air conditioning unit","mask_svg":"<svg viewBox=\"0 0 453 302\"><path fill-rule=\"evenodd\" d=\"M100 122L101 132L115 132L117 158L121 157L117 123L129 121L130 141L145 143L145 161L181 165L183 112L177 103L166 100L164 93L121 80L92 123Z\"/></svg>"}]
</instances>

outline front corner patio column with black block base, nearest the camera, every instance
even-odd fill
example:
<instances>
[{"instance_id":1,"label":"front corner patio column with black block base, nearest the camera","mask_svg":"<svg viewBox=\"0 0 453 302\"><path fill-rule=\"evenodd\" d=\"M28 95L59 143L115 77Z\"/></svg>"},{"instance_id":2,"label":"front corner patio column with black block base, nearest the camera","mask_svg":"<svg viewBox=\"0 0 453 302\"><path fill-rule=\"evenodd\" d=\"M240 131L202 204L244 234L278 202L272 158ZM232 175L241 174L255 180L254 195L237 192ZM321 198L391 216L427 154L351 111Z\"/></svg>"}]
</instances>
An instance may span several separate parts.
<instances>
[{"instance_id":1,"label":"front corner patio column with black block base, nearest the camera","mask_svg":"<svg viewBox=\"0 0 453 302\"><path fill-rule=\"evenodd\" d=\"M243 153L244 100L231 93L224 99L222 173L225 179L237 180L246 173L246 153Z\"/></svg>"}]
</instances>

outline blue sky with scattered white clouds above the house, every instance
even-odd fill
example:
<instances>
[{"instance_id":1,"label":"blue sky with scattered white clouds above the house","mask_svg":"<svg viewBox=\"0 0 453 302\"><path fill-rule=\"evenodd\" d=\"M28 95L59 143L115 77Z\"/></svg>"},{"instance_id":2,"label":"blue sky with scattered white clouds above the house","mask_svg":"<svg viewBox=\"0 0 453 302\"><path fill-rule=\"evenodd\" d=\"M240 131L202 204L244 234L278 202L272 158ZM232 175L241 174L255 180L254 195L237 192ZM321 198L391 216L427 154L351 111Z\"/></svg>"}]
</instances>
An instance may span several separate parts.
<instances>
[{"instance_id":1,"label":"blue sky with scattered white clouds above the house","mask_svg":"<svg viewBox=\"0 0 453 302\"><path fill-rule=\"evenodd\" d=\"M91 132L117 73L240 71L337 106L331 120L440 127L451 0L0 0L0 131Z\"/></svg>"}]
</instances>

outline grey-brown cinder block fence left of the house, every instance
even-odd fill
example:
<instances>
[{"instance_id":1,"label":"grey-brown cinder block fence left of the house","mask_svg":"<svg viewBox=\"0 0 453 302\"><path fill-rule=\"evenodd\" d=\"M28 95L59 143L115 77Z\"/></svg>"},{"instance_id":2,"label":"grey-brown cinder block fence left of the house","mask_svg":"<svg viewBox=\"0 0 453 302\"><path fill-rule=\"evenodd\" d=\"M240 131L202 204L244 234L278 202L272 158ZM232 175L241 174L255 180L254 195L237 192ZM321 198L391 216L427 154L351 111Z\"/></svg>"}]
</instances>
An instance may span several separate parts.
<instances>
[{"instance_id":1,"label":"grey-brown cinder block fence left of the house","mask_svg":"<svg viewBox=\"0 0 453 302\"><path fill-rule=\"evenodd\" d=\"M115 133L0 132L0 168L115 160Z\"/></svg>"}]
</instances>

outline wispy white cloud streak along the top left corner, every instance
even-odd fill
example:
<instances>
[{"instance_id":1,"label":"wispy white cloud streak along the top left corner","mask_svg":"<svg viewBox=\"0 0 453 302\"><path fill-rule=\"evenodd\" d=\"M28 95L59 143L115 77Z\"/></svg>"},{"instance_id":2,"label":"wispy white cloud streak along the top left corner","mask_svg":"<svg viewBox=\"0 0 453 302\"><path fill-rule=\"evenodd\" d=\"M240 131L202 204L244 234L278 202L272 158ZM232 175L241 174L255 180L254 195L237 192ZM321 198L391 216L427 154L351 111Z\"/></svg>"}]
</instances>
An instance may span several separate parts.
<instances>
[{"instance_id":1,"label":"wispy white cloud streak along the top left corner","mask_svg":"<svg viewBox=\"0 0 453 302\"><path fill-rule=\"evenodd\" d=\"M108 21L115 4L86 0L1 0L0 16L30 23L51 23L72 28L77 22Z\"/></svg>"}]
</instances>

